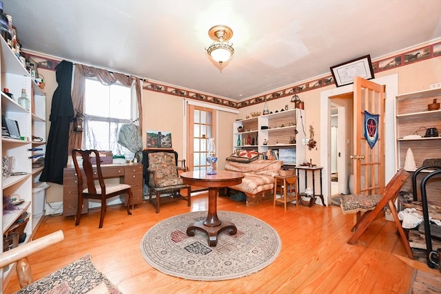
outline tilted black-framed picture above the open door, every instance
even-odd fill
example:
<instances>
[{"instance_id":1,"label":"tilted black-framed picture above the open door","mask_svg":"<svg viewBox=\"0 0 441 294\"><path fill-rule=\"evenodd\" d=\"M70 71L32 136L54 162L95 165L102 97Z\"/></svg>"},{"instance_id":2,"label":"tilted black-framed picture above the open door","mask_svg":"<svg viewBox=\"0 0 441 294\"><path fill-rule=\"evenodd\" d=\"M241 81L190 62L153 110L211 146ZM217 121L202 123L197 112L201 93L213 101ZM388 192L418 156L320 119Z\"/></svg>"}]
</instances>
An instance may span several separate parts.
<instances>
[{"instance_id":1,"label":"tilted black-framed picture above the open door","mask_svg":"<svg viewBox=\"0 0 441 294\"><path fill-rule=\"evenodd\" d=\"M355 76L370 80L373 78L371 56L366 55L358 59L331 66L331 73L337 87L353 83Z\"/></svg>"}]
</instances>

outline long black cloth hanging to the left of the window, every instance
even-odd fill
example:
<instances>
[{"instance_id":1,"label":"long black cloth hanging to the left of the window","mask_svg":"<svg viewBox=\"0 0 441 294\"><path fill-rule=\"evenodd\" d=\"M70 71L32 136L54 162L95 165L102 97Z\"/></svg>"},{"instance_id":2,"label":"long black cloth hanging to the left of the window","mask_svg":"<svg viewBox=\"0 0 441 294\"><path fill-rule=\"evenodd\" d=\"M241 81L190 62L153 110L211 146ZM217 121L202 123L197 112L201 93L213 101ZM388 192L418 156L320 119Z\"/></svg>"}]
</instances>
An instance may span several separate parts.
<instances>
[{"instance_id":1,"label":"long black cloth hanging to the left of the window","mask_svg":"<svg viewBox=\"0 0 441 294\"><path fill-rule=\"evenodd\" d=\"M57 70L57 90L52 97L50 130L46 143L46 154L40 182L55 182L63 185L63 168L68 164L69 127L74 118L72 105L72 63L61 61Z\"/></svg>"}]
</instances>

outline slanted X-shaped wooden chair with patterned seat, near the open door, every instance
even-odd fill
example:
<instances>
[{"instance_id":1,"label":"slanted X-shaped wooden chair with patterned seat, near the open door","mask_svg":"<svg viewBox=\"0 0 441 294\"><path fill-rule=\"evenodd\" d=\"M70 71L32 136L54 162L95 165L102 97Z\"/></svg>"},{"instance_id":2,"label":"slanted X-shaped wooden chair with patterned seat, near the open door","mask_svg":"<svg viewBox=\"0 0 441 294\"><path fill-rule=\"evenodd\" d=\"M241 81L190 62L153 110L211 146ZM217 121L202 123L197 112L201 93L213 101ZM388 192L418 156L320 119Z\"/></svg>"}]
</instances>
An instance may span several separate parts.
<instances>
[{"instance_id":1,"label":"slanted X-shaped wooden chair with patterned seat, near the open door","mask_svg":"<svg viewBox=\"0 0 441 294\"><path fill-rule=\"evenodd\" d=\"M348 244L355 244L362 233L369 227L369 224L371 224L373 220L376 220L379 213L389 204L389 209L391 210L393 220L395 220L404 248L409 258L413 259L407 235L401 227L401 222L398 219L398 213L394 203L402 185L406 182L408 177L409 173L404 169L400 169L386 187L384 187L384 191L381 195L346 195L340 198L340 206L344 214L363 212L363 215L358 218L356 224L352 227L353 234L348 240Z\"/></svg>"}]
</instances>

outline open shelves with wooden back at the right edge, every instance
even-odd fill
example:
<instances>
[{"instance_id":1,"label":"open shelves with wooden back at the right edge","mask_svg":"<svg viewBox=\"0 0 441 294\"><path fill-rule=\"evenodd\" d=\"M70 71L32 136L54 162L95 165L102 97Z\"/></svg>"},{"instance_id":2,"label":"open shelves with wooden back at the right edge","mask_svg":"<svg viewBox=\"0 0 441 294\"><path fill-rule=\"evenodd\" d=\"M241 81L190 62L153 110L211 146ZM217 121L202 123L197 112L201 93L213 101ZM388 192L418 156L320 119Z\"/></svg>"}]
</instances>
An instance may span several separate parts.
<instances>
[{"instance_id":1,"label":"open shelves with wooden back at the right edge","mask_svg":"<svg viewBox=\"0 0 441 294\"><path fill-rule=\"evenodd\" d=\"M441 102L441 89L424 90L396 96L397 169L404 167L409 148L413 153L416 168L422 167L422 163L426 159L441 158L441 109L429 111L427 107L427 105L433 103L434 98ZM438 129L437 137L425 137L426 129L429 127ZM422 176L417 180L421 180L424 172L430 171L422 171ZM411 189L411 177L402 189ZM419 190L420 184L418 182L418 198L420 198ZM440 190L440 179L433 179L430 185L427 185L427 195L431 198L431 201L434 201L433 204L441 205Z\"/></svg>"}]
</instances>

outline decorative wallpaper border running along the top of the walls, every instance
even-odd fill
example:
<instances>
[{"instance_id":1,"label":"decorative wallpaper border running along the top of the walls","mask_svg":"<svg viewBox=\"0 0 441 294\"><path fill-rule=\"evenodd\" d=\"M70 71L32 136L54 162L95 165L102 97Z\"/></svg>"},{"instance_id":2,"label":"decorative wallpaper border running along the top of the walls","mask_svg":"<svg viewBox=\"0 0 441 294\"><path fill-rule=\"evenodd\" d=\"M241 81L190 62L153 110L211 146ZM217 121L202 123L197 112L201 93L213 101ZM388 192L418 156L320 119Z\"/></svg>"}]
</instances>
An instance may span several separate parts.
<instances>
[{"instance_id":1,"label":"decorative wallpaper border running along the top of the walls","mask_svg":"<svg viewBox=\"0 0 441 294\"><path fill-rule=\"evenodd\" d=\"M411 63L424 61L438 56L441 56L441 42L427 45L416 50L411 50L409 52L402 52L401 54L388 57L387 59L373 61L372 62L373 73L376 74L378 72L384 72L386 70L391 70L396 67L409 65ZM25 57L34 59L34 61L37 62L39 68L44 68L46 70L55 70L55 67L57 67L57 65L60 63L60 61L54 59L48 59L46 57L37 56L34 54L25 53ZM161 83L152 83L149 82L148 79L143 83L143 90L148 90L152 92L161 92L174 96L180 96L184 98L189 98L198 101L204 101L208 103L214 103L217 105L223 105L223 106L239 109L250 105L264 103L265 98L267 101L271 101L286 96L293 96L294 94L300 94L302 92L316 90L320 87L326 87L328 85L334 85L334 84L335 84L334 78L332 77L331 73L329 73L329 76L325 76L324 78L318 78L316 80L308 81L306 83L300 83L298 85L294 85L283 90L278 90L276 92L268 93L263 96L256 96L253 98L249 98L246 101L240 101L240 102L231 101L229 99L220 98L216 96L201 94L194 91L183 90L179 87L171 87L171 86L163 85Z\"/></svg>"}]
</instances>

